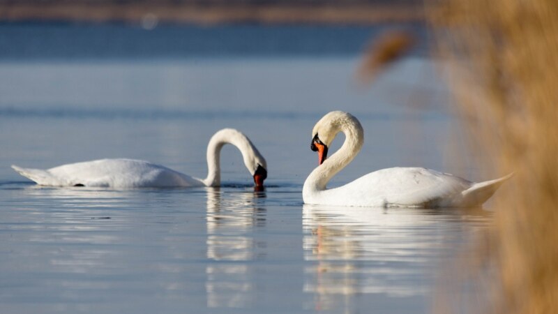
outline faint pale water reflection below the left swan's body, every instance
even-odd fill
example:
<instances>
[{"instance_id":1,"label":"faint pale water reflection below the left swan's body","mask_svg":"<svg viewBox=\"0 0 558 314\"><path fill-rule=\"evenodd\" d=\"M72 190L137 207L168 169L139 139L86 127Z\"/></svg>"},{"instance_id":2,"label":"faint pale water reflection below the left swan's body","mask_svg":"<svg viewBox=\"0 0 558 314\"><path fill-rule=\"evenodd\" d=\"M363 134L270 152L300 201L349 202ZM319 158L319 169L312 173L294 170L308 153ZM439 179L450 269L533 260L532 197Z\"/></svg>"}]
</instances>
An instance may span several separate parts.
<instances>
[{"instance_id":1,"label":"faint pale water reflection below the left swan's body","mask_svg":"<svg viewBox=\"0 0 558 314\"><path fill-rule=\"evenodd\" d=\"M17 221L12 232L20 234L12 244L18 254L40 265L36 286L49 287L43 297L58 297L64 289L98 289L109 283L79 281L75 274L98 274L107 264L121 262L113 244L122 243L130 195L126 191L99 188L51 188L26 186L17 201L17 211L7 221ZM22 263L24 264L24 263ZM53 283L43 274L59 274ZM81 277L80 277L81 278ZM48 283L45 283L47 281Z\"/></svg>"}]
</instances>

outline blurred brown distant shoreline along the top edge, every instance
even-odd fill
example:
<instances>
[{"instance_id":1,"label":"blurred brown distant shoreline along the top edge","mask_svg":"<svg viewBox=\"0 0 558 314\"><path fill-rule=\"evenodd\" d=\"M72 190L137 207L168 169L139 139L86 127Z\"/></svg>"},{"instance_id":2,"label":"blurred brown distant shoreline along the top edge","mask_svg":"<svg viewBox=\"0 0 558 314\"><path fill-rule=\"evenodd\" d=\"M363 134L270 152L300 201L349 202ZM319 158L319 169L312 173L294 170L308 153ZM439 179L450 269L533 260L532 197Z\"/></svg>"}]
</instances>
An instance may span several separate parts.
<instances>
[{"instance_id":1,"label":"blurred brown distant shoreline along the top edge","mask_svg":"<svg viewBox=\"0 0 558 314\"><path fill-rule=\"evenodd\" d=\"M196 6L177 4L18 4L0 3L0 22L28 20L68 22L158 22L188 24L378 24L423 22L423 6Z\"/></svg>"}]
</instances>

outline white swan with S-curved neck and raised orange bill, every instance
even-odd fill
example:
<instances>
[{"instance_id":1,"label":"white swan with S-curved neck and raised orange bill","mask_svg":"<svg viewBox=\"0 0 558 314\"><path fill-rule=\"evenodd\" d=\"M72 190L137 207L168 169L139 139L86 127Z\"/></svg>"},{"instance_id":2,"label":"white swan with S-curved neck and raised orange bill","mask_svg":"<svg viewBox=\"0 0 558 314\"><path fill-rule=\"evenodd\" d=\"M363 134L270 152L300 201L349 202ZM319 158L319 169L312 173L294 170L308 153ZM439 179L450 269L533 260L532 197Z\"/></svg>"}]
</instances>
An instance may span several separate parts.
<instances>
[{"instance_id":1,"label":"white swan with S-curved neck and raised orange bill","mask_svg":"<svg viewBox=\"0 0 558 314\"><path fill-rule=\"evenodd\" d=\"M339 132L345 142L331 157L328 147ZM393 167L366 174L344 186L326 188L329 180L348 165L363 145L363 128L352 114L329 112L312 130L310 149L318 152L319 166L303 185L305 204L346 207L477 207L506 177L474 183L452 174L422 167Z\"/></svg>"}]
</instances>

